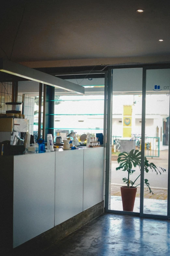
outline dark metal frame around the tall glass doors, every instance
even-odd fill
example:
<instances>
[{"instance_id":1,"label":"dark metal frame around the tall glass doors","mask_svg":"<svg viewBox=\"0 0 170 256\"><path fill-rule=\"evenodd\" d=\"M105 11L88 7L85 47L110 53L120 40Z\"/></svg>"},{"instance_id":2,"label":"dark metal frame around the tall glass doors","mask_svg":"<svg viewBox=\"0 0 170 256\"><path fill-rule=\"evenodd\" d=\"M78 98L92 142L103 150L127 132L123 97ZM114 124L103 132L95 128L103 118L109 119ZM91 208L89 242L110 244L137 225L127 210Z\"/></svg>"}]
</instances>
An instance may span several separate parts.
<instances>
[{"instance_id":1,"label":"dark metal frame around the tall glass doors","mask_svg":"<svg viewBox=\"0 0 170 256\"><path fill-rule=\"evenodd\" d=\"M108 209L109 203L109 172L111 169L111 146L112 146L112 96L113 87L113 69L123 68L143 68L142 74L142 131L141 131L141 186L140 186L140 212L126 212ZM170 157L168 158L168 196L167 196L167 215L147 214L143 213L144 206L144 158L145 158L145 111L146 111L146 71L149 69L170 69L170 63L162 64L139 64L139 65L120 65L108 67L107 79L107 129L106 129L106 186L105 186L105 213L134 215L148 218L170 219ZM170 109L169 109L170 115ZM169 120L170 122L170 120ZM169 126L170 127L170 126ZM169 147L170 152L170 136Z\"/></svg>"}]
</instances>

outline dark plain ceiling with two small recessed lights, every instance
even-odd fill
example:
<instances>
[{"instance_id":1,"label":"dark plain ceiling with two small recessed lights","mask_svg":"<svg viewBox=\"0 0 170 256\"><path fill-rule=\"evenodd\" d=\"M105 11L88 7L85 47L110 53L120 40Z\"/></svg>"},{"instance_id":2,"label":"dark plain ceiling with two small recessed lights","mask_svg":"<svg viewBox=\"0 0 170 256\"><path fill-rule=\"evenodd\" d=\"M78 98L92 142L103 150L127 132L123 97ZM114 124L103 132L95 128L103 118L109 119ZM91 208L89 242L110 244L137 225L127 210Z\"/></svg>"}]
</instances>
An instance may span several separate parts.
<instances>
[{"instance_id":1,"label":"dark plain ceiling with two small recessed lights","mask_svg":"<svg viewBox=\"0 0 170 256\"><path fill-rule=\"evenodd\" d=\"M170 53L169 10L170 1L163 0L4 1L0 57L42 61L165 55Z\"/></svg>"}]
</instances>

